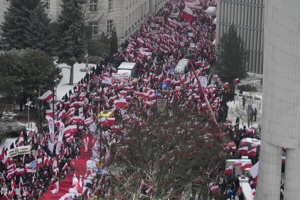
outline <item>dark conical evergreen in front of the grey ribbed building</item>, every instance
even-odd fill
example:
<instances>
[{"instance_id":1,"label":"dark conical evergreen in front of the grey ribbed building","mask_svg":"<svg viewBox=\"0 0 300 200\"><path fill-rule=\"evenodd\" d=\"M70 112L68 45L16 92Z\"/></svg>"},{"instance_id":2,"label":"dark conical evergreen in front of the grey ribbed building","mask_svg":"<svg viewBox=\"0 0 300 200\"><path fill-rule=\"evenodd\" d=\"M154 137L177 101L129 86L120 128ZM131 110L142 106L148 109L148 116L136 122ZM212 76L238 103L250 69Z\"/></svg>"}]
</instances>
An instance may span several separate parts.
<instances>
[{"instance_id":1,"label":"dark conical evergreen in front of the grey ribbed building","mask_svg":"<svg viewBox=\"0 0 300 200\"><path fill-rule=\"evenodd\" d=\"M232 83L236 78L247 76L244 43L233 26L222 36L217 50L219 60L216 63L216 73L221 81Z\"/></svg>"}]
</instances>

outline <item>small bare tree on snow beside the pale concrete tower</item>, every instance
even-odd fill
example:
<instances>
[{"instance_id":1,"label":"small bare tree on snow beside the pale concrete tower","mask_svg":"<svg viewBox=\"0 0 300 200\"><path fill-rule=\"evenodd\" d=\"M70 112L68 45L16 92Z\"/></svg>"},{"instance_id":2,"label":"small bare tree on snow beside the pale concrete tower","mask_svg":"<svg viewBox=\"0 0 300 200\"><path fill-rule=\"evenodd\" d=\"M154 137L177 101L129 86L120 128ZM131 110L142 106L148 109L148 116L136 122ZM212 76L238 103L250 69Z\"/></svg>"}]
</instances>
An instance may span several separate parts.
<instances>
[{"instance_id":1,"label":"small bare tree on snow beside the pale concrete tower","mask_svg":"<svg viewBox=\"0 0 300 200\"><path fill-rule=\"evenodd\" d=\"M253 121L254 109L256 108L256 112L260 113L261 106L260 100L256 99L254 95L250 94L245 98L245 105L243 105L242 100L237 101L235 107L231 110L232 115L235 117L239 117L240 120L245 121L250 126L250 123ZM260 120L260 115L256 115L256 121Z\"/></svg>"}]
</instances>

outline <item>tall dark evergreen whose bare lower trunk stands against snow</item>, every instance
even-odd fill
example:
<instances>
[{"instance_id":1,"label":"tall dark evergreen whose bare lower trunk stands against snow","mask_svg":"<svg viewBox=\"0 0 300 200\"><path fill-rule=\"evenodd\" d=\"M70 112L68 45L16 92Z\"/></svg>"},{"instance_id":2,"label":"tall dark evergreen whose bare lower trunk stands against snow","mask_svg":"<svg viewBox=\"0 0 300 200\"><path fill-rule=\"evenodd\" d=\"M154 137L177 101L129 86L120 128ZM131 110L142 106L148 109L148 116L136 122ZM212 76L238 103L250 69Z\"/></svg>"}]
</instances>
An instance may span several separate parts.
<instances>
[{"instance_id":1,"label":"tall dark evergreen whose bare lower trunk stands against snow","mask_svg":"<svg viewBox=\"0 0 300 200\"><path fill-rule=\"evenodd\" d=\"M59 52L58 63L71 66L70 85L73 85L74 64L84 57L84 0L62 0L62 13L58 18Z\"/></svg>"}]
</instances>

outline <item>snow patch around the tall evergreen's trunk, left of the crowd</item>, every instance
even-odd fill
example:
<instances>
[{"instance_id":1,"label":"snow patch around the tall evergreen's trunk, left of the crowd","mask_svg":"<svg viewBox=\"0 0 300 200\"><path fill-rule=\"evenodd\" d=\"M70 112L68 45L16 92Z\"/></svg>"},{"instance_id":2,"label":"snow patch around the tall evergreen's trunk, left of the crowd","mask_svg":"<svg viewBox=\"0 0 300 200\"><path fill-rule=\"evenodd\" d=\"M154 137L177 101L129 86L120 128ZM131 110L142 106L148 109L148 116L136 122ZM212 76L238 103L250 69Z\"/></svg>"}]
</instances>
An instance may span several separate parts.
<instances>
[{"instance_id":1,"label":"snow patch around the tall evergreen's trunk, left of the crowd","mask_svg":"<svg viewBox=\"0 0 300 200\"><path fill-rule=\"evenodd\" d=\"M66 64L60 64L58 66L60 68L69 67ZM94 65L94 64L89 64L89 67L93 67L93 66L96 67L96 65ZM83 78L85 76L86 73L80 71L80 69L85 69L85 68L86 68L85 63L81 63L81 64L76 63L74 65L74 78L73 78L74 85L77 85L78 81L80 81L81 78ZM61 80L60 84L57 87L57 100L61 100L63 98L63 96L65 96L66 93L69 96L69 90L73 91L73 87L74 87L74 85L73 86L69 85L70 69L63 68L62 74L63 74L63 79Z\"/></svg>"}]
</instances>

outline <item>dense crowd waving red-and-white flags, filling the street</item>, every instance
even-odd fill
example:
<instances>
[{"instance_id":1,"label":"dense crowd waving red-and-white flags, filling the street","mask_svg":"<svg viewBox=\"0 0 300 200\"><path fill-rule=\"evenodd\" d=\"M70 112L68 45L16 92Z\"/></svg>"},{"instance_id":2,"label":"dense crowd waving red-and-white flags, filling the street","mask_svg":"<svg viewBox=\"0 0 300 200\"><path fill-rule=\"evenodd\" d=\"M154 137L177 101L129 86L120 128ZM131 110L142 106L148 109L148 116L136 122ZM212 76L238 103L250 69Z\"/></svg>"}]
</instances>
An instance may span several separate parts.
<instances>
[{"instance_id":1,"label":"dense crowd waving red-and-white flags, filling the street","mask_svg":"<svg viewBox=\"0 0 300 200\"><path fill-rule=\"evenodd\" d=\"M2 187L8 187L8 195L2 194L1 198L32 200L47 198L47 192L55 195L54 190L58 190L57 182L70 178L69 174L76 171L72 160L83 159L83 140L94 138L90 134L91 124L96 121L97 128L102 129L105 136L103 139L118 145L123 135L116 134L115 127L128 119L130 114L139 117L151 115L157 91L160 98L167 99L169 104L176 105L179 109L201 112L207 117L207 121L210 121L203 95L194 84L193 72L189 70L178 77L170 72L181 59L186 58L184 47L196 47L195 54L190 57L192 64L197 76L206 77L207 87L204 89L210 107L217 122L223 125L223 131L234 142L230 146L225 146L223 153L231 159L241 159L238 148L244 144L240 146L240 141L247 137L258 140L260 138L255 134L255 129L242 127L239 119L235 123L226 121L228 113L226 103L233 100L235 85L223 84L217 76L209 76L216 60L212 44L215 39L213 21L216 16L204 12L210 6L216 6L215 1L201 0L199 5L191 8L194 19L188 21L184 14L185 2L168 1L156 15L163 17L163 22L148 17L122 44L122 49L93 67L73 89L66 91L62 101L55 105L57 108L55 116L52 110L45 111L48 125L41 127L40 132L29 130L22 133L15 143L2 149L0 178ZM179 14L178 18L170 17L174 13ZM122 62L136 63L137 73L130 82L112 77ZM162 88L160 82L169 87ZM46 100L48 96L44 97ZM47 106L47 101L44 104ZM96 119L101 110L112 110L114 117ZM31 147L30 153L17 156L10 156L8 153L10 149L28 145ZM103 159L116 156L115 154L108 156L109 148L110 146L103 146ZM252 164L258 161L257 154L249 157ZM219 186L217 192L224 194L224 199L229 196L231 198L231 195L233 199L235 196L243 199L238 189L238 178L223 172L224 169L220 171L218 182L215 183ZM254 188L255 180L250 174L248 176L249 184ZM78 194L70 198L79 196L88 198L94 194L109 197L111 185L105 174L101 178L95 177L85 186L87 189L79 189Z\"/></svg>"}]
</instances>

